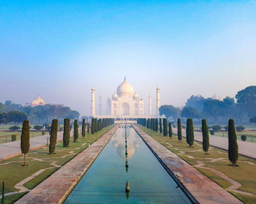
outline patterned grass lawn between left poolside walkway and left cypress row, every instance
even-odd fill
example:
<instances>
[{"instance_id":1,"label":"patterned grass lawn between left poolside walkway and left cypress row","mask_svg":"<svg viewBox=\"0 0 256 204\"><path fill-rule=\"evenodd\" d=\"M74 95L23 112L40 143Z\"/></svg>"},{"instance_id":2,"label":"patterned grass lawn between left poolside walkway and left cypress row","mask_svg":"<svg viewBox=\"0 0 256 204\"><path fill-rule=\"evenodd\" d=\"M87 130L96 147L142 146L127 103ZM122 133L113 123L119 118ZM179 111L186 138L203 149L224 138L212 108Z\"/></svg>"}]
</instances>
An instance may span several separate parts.
<instances>
[{"instance_id":1,"label":"patterned grass lawn between left poolside walkway and left cypress row","mask_svg":"<svg viewBox=\"0 0 256 204\"><path fill-rule=\"evenodd\" d=\"M33 189L34 186L37 186L40 182L45 180L45 178L48 178L48 176L59 169L59 167L54 165L63 166L69 162L70 159L74 158L81 151L87 148L91 143L94 143L95 140L99 139L99 137L108 132L112 127L113 125L105 127L101 131L94 133L94 135L89 134L89 136L86 132L86 137L81 137L81 135L79 135L78 143L73 143L73 139L71 137L69 147L67 148L64 148L62 146L62 141L60 141L56 144L56 154L48 154L49 146L30 151L29 154L27 154L27 167L22 166L23 155L1 161L0 188L2 187L2 181L4 181L6 193L18 191L18 189L15 188L16 184L34 173L37 173L39 170L48 168L34 178L31 178L30 181L27 181L23 185L28 189ZM18 196L18 198L21 197L21 195ZM11 197L14 197L14 195L6 197L5 201L11 202Z\"/></svg>"}]
</instances>

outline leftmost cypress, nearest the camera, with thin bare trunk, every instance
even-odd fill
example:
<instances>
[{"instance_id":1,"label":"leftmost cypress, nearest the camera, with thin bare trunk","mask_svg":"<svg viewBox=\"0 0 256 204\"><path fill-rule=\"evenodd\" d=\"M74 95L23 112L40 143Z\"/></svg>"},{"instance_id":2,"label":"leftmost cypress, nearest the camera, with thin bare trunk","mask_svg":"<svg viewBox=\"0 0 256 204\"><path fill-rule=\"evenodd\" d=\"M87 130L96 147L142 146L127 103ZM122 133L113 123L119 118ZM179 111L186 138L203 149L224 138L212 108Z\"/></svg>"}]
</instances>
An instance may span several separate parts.
<instances>
[{"instance_id":1,"label":"leftmost cypress, nearest the camera, with thin bare trunk","mask_svg":"<svg viewBox=\"0 0 256 204\"><path fill-rule=\"evenodd\" d=\"M29 153L30 143L29 143L29 121L23 121L22 132L20 136L20 149L21 153L24 154L24 164L26 167L26 154Z\"/></svg>"}]
</instances>

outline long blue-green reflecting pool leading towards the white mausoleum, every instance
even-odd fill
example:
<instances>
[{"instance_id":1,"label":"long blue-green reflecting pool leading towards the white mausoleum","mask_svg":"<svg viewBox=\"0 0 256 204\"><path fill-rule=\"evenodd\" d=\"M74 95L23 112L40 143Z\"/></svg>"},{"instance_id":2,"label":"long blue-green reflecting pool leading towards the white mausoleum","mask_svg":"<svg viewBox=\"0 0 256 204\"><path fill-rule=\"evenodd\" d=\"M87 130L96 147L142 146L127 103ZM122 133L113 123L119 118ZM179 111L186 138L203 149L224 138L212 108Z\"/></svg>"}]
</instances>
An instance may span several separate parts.
<instances>
[{"instance_id":1,"label":"long blue-green reflecting pool leading towards the white mausoleum","mask_svg":"<svg viewBox=\"0 0 256 204\"><path fill-rule=\"evenodd\" d=\"M125 192L127 181L130 192ZM190 203L135 129L120 125L64 203Z\"/></svg>"}]
</instances>

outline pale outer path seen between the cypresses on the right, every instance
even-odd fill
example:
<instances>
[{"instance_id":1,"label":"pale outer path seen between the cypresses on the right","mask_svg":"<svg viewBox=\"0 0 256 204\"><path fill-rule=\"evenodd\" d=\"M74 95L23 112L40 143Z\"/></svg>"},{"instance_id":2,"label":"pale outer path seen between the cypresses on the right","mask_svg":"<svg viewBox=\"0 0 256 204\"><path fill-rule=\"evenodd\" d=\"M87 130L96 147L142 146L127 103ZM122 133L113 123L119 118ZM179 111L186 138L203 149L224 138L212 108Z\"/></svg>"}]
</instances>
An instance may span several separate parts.
<instances>
[{"instance_id":1,"label":"pale outer path seen between the cypresses on the right","mask_svg":"<svg viewBox=\"0 0 256 204\"><path fill-rule=\"evenodd\" d=\"M182 129L182 136L186 137L186 130ZM177 134L177 129L173 128L173 133ZM194 132L195 140L198 142L203 141L202 132ZM214 135L209 135L210 145L218 148L228 149L228 139L227 137L219 137ZM246 141L237 140L238 143L238 153L244 156L249 156L256 159L256 143L250 143Z\"/></svg>"}]
</instances>

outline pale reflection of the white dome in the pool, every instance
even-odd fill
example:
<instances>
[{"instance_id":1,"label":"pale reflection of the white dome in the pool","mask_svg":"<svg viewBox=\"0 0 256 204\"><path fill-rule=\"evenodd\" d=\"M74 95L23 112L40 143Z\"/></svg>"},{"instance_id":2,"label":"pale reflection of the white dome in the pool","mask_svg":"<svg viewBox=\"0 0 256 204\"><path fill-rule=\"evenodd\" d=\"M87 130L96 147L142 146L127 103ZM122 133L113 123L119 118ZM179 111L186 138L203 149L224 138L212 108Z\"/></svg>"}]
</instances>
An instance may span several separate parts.
<instances>
[{"instance_id":1,"label":"pale reflection of the white dome in the pool","mask_svg":"<svg viewBox=\"0 0 256 204\"><path fill-rule=\"evenodd\" d=\"M125 148L125 126L121 126L113 135L112 145L116 147L118 156L124 161L129 160L135 154L135 148L140 145L140 140L135 137L135 131L131 131L132 126L127 125L127 158L126 158L126 148Z\"/></svg>"}]
</instances>

